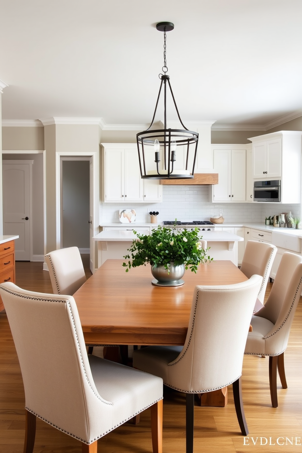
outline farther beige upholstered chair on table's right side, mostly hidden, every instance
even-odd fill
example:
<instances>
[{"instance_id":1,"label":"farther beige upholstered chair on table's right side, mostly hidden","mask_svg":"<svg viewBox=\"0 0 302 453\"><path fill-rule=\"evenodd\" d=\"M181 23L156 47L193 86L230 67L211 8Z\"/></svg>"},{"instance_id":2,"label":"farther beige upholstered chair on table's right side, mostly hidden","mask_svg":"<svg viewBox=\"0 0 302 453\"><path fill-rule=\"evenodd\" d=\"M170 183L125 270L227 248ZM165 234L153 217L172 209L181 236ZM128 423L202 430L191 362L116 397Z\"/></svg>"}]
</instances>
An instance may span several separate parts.
<instances>
[{"instance_id":1,"label":"farther beige upholstered chair on table's right side, mostly hidden","mask_svg":"<svg viewBox=\"0 0 302 453\"><path fill-rule=\"evenodd\" d=\"M254 274L262 275L263 277L258 294L261 304L264 303L265 290L276 253L277 247L259 241L247 241L244 250L242 264L240 266L241 272L248 278Z\"/></svg>"}]
</instances>

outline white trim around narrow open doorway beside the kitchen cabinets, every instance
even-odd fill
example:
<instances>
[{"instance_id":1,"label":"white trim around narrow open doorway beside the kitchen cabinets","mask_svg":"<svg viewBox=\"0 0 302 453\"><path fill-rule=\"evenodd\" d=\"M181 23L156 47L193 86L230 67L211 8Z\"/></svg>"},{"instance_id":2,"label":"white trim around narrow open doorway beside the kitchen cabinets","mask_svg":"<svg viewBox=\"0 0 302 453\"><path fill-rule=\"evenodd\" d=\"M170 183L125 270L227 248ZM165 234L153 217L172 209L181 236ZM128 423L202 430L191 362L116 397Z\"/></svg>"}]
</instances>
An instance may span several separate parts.
<instances>
[{"instance_id":1,"label":"white trim around narrow open doorway beside the kitchen cabinets","mask_svg":"<svg viewBox=\"0 0 302 453\"><path fill-rule=\"evenodd\" d=\"M61 157L72 157L73 160L77 160L77 158L86 157L92 158L93 163L93 172L92 172L92 230L93 236L97 234L98 228L98 219L97 215L99 212L99 198L97 197L97 190L99 187L99 167L98 167L98 153L97 152L56 152L56 242L57 242L57 250L61 248L61 222L62 222L62 215L61 215L61 205L62 205L62 188L61 188ZM90 182L91 183L91 182ZM96 270L96 252L95 247L92 247L90 251L92 255L92 263L93 263L93 272Z\"/></svg>"}]
</instances>

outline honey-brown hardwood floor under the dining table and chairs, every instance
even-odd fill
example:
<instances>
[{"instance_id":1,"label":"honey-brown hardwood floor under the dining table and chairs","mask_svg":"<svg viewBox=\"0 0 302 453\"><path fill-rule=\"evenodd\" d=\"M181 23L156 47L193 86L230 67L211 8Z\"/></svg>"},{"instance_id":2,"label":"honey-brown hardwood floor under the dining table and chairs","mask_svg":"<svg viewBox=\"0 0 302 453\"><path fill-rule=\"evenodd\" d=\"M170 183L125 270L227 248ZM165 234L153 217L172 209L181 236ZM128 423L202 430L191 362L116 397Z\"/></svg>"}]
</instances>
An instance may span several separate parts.
<instances>
[{"instance_id":1,"label":"honey-brown hardwood floor under the dining table and chairs","mask_svg":"<svg viewBox=\"0 0 302 453\"><path fill-rule=\"evenodd\" d=\"M87 265L86 265L87 267ZM87 270L87 269L86 269ZM87 276L89 275L87 270ZM42 263L17 262L16 283L26 289L52 292ZM269 288L267 290L267 294ZM302 444L302 298L292 324L285 352L288 389L278 381L278 408L270 402L268 358L244 356L242 387L249 438L240 434L229 386L224 408L195 406L195 453L297 452ZM24 390L18 357L5 312L0 313L0 453L21 453L24 442ZM253 439L252 439L253 438ZM262 439L261 439L262 438ZM271 440L270 440L271 438ZM284 438L284 439L283 439ZM286 438L293 445L286 445ZM292 439L293 438L293 439ZM300 438L295 445L295 438ZM265 446L264 443L268 444ZM277 444L277 439L279 444ZM262 441L262 445L261 445ZM269 443L275 445L270 445ZM138 425L124 424L98 441L99 453L152 452L150 411ZM34 453L80 453L81 444L37 419ZM185 452L185 396L165 389L163 407L163 452Z\"/></svg>"}]
</instances>

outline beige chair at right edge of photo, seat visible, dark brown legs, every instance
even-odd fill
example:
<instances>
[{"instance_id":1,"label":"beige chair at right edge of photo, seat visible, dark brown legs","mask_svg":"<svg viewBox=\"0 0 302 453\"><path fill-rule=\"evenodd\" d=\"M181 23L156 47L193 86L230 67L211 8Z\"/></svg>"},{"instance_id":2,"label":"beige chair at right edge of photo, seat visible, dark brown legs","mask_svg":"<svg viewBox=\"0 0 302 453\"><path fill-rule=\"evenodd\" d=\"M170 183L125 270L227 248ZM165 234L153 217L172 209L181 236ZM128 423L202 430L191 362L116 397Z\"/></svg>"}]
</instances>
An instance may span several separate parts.
<instances>
[{"instance_id":1,"label":"beige chair at right edge of photo, seat visible, dark brown legs","mask_svg":"<svg viewBox=\"0 0 302 453\"><path fill-rule=\"evenodd\" d=\"M268 300L251 320L245 354L269 356L269 388L273 407L278 407L277 368L283 389L287 388L284 351L301 294L302 256L282 255Z\"/></svg>"}]
</instances>

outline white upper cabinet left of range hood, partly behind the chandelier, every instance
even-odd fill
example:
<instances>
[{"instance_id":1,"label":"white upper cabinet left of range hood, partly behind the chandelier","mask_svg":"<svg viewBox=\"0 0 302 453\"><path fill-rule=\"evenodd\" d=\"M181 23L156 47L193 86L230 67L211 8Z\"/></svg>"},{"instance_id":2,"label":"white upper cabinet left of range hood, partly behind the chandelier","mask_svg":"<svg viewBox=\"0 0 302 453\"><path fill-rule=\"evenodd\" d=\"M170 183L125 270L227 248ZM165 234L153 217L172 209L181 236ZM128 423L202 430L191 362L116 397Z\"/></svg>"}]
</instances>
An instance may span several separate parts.
<instances>
[{"instance_id":1,"label":"white upper cabinet left of range hood, partly behind the chandelier","mask_svg":"<svg viewBox=\"0 0 302 453\"><path fill-rule=\"evenodd\" d=\"M102 200L104 202L161 202L159 180L140 177L137 146L134 143L103 143Z\"/></svg>"}]
</instances>

